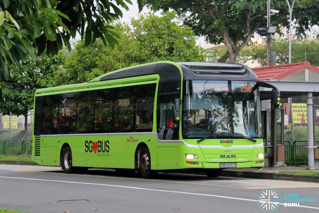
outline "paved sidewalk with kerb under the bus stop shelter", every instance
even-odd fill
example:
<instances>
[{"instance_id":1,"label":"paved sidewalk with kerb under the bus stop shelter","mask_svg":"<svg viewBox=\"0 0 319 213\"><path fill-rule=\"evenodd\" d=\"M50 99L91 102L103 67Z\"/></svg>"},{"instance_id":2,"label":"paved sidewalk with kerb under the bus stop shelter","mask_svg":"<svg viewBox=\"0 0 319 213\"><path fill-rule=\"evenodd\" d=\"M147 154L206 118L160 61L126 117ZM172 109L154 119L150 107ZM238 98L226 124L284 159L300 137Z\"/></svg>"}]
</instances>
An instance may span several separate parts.
<instances>
[{"instance_id":1,"label":"paved sidewalk with kerb under the bus stop shelter","mask_svg":"<svg viewBox=\"0 0 319 213\"><path fill-rule=\"evenodd\" d=\"M273 179L273 180L293 180L293 181L319 183L319 177L311 177L308 175L280 174L279 171L306 171L306 168L284 166L284 167L263 167L262 169L256 169L256 168L225 169L222 171L221 176Z\"/></svg>"}]
</instances>

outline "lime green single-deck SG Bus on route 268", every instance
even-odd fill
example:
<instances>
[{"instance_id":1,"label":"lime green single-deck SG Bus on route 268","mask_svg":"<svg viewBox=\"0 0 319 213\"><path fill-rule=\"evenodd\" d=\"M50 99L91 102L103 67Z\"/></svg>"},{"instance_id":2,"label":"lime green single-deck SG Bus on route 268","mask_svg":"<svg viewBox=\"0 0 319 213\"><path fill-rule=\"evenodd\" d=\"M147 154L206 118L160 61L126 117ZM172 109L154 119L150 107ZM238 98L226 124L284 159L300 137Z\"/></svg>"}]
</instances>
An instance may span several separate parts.
<instances>
[{"instance_id":1,"label":"lime green single-deck SG Bus on route 268","mask_svg":"<svg viewBox=\"0 0 319 213\"><path fill-rule=\"evenodd\" d=\"M259 87L234 63L160 61L87 83L36 90L33 161L62 166L161 172L264 166Z\"/></svg>"}]
</instances>

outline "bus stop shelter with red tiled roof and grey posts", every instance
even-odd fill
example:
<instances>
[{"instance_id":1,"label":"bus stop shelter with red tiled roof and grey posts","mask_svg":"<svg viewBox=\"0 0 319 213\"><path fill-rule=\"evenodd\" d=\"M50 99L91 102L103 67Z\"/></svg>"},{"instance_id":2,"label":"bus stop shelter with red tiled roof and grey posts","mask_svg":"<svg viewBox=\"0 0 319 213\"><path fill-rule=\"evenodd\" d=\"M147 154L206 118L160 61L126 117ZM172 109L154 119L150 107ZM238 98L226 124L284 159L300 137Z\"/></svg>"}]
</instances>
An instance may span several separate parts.
<instances>
[{"instance_id":1,"label":"bus stop shelter with red tiled roof and grey posts","mask_svg":"<svg viewBox=\"0 0 319 213\"><path fill-rule=\"evenodd\" d=\"M256 73L258 80L270 83L278 88L280 97L306 97L307 99L307 123L308 123L308 145L303 147L308 149L308 169L319 169L319 144L315 144L314 137L314 106L313 97L319 95L319 68L311 65L308 61L272 65L252 68ZM270 145L265 144L265 149L272 149L271 155L265 155L265 166L284 166L284 121L277 125L278 115L283 115L283 106L281 109L270 109L271 89L260 88L262 109L270 110ZM290 107L291 109L291 107ZM279 110L279 112L278 112ZM280 116L282 119L284 116ZM269 122L269 121L268 121ZM267 124L267 121L266 121ZM293 126L293 122L291 122ZM267 125L263 125L267 128ZM279 143L278 143L279 141ZM265 153L266 150L265 150ZM267 162L268 161L268 162Z\"/></svg>"}]
</instances>

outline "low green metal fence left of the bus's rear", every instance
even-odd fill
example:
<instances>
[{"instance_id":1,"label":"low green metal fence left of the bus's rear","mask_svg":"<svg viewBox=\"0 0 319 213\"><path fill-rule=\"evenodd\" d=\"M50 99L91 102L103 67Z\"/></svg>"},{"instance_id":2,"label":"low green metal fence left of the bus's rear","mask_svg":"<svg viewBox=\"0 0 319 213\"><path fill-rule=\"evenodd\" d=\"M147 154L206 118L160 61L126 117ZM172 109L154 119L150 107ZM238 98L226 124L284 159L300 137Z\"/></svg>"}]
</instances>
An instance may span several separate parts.
<instances>
[{"instance_id":1,"label":"low green metal fence left of the bus's rear","mask_svg":"<svg viewBox=\"0 0 319 213\"><path fill-rule=\"evenodd\" d=\"M23 155L25 140L8 139L0 140L0 155ZM31 140L27 140L28 155L31 155Z\"/></svg>"}]
</instances>

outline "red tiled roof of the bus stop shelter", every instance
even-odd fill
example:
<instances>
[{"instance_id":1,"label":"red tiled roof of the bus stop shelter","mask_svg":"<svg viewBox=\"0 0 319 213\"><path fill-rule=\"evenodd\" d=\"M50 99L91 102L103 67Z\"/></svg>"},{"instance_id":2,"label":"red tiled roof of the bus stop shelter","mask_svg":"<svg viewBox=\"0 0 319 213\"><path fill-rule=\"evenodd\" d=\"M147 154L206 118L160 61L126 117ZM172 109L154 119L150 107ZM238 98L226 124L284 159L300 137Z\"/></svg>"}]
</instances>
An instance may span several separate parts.
<instances>
[{"instance_id":1,"label":"red tiled roof of the bus stop shelter","mask_svg":"<svg viewBox=\"0 0 319 213\"><path fill-rule=\"evenodd\" d=\"M319 68L311 65L308 61L255 67L251 69L256 73L258 80L281 80L304 69L310 69L314 72L319 73Z\"/></svg>"}]
</instances>

